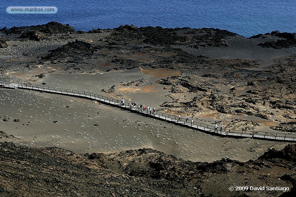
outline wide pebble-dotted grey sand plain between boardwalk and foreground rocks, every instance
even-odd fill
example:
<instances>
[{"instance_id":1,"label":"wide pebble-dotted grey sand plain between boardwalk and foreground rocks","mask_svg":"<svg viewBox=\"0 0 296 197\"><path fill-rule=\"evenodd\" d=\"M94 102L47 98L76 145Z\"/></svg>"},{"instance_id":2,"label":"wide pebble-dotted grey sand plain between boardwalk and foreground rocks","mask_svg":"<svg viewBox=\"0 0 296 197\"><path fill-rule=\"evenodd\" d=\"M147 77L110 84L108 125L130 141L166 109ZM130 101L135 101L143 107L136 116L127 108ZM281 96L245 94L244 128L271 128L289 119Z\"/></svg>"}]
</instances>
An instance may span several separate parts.
<instances>
[{"instance_id":1,"label":"wide pebble-dotted grey sand plain between boardwalk and foreground rocks","mask_svg":"<svg viewBox=\"0 0 296 197\"><path fill-rule=\"evenodd\" d=\"M1 130L19 138L13 141L24 146L57 146L75 153L146 147L186 160L211 162L226 156L247 161L271 146L287 145L210 136L76 97L22 89L0 89L0 93L0 116L9 118L1 121ZM12 121L15 118L20 121Z\"/></svg>"}]
</instances>

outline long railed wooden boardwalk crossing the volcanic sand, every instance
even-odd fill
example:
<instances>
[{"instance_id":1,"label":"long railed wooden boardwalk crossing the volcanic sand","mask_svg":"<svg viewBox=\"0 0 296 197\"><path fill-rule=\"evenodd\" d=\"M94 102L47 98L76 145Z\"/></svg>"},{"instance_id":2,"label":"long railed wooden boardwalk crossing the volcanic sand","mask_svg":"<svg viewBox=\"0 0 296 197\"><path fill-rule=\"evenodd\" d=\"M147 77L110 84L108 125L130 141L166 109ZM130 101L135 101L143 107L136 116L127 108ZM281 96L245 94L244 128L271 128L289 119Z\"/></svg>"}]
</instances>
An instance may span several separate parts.
<instances>
[{"instance_id":1,"label":"long railed wooden boardwalk crossing the volcanic sand","mask_svg":"<svg viewBox=\"0 0 296 197\"><path fill-rule=\"evenodd\" d=\"M296 134L290 134L290 133L263 132L263 131L239 131L239 130L229 130L229 129L220 133L220 131L218 132L214 131L213 125L207 125L197 121L194 121L193 124L191 124L190 121L189 123L186 123L184 118L181 118L181 120L178 121L178 117L176 117L176 115L165 114L159 111L156 111L155 114L150 114L147 110L144 111L144 110L138 110L136 108L130 108L130 106L128 105L121 105L120 103L121 101L115 100L113 98L105 97L102 95L94 94L91 92L81 92L81 91L70 90L70 89L46 87L41 85L32 85L32 84L26 84L26 83L14 82L14 81L0 82L0 86L4 88L10 88L10 89L17 89L17 88L29 89L29 90L39 91L39 92L40 91L49 92L54 94L68 95L68 96L80 97L80 98L85 98L90 100L96 100L97 102L100 102L106 105L111 105L113 107L118 107L120 109L128 110L133 113L138 113L143 116L158 119L161 121L166 121L169 123L173 123L173 124L194 129L197 131L202 131L202 132L205 132L211 135L216 135L216 136L296 142Z\"/></svg>"}]
</instances>

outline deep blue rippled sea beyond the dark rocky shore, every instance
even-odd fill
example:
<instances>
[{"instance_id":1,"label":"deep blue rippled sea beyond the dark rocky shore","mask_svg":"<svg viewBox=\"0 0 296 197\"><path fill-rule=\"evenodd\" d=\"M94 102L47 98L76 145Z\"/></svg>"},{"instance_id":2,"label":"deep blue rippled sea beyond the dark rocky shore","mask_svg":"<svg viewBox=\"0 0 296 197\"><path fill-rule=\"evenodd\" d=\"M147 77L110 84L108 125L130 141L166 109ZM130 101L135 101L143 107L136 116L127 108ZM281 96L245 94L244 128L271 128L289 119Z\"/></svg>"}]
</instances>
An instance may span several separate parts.
<instances>
[{"instance_id":1,"label":"deep blue rippled sea beyond the dark rocky shore","mask_svg":"<svg viewBox=\"0 0 296 197\"><path fill-rule=\"evenodd\" d=\"M9 14L9 6L54 6L55 14ZM75 30L133 24L161 27L213 27L245 37L279 30L296 32L295 0L1 0L0 28L57 21Z\"/></svg>"}]
</instances>

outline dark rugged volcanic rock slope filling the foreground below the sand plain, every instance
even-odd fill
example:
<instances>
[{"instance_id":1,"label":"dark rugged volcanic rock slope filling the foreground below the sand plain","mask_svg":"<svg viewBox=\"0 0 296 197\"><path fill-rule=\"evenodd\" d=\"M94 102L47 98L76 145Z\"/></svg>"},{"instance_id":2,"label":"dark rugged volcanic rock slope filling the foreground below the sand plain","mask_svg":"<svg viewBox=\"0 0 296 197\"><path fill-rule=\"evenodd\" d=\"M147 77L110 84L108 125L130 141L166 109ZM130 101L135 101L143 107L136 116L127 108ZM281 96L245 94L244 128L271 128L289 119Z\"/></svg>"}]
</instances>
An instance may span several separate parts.
<instances>
[{"instance_id":1,"label":"dark rugged volcanic rock slope filling the foreground below the sand plain","mask_svg":"<svg viewBox=\"0 0 296 197\"><path fill-rule=\"evenodd\" d=\"M234 180L237 184L256 181L263 185L266 178L270 185L285 184L292 188L295 147L290 144L281 151L270 149L255 161L243 163L224 157L209 163L184 161L152 149L77 155L60 148L0 142L0 195L198 197L206 196L202 185L211 181L212 187L229 191ZM272 176L262 179L261 175L266 174ZM222 183L217 185L219 182ZM229 196L229 193L209 192L215 195L208 196ZM244 196L245 192L234 196Z\"/></svg>"}]
</instances>

